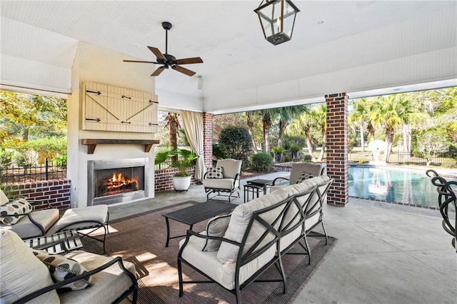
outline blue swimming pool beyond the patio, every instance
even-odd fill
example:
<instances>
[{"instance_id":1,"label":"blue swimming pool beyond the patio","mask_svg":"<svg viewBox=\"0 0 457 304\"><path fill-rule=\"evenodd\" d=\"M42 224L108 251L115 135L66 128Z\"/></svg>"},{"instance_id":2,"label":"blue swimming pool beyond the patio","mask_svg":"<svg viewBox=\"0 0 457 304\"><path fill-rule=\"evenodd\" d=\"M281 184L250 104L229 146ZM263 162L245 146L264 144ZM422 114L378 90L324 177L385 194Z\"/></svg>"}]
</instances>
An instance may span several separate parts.
<instances>
[{"instance_id":1,"label":"blue swimming pool beyond the patio","mask_svg":"<svg viewBox=\"0 0 457 304\"><path fill-rule=\"evenodd\" d=\"M436 187L423 170L349 166L348 184L349 196L438 209Z\"/></svg>"}]
</instances>

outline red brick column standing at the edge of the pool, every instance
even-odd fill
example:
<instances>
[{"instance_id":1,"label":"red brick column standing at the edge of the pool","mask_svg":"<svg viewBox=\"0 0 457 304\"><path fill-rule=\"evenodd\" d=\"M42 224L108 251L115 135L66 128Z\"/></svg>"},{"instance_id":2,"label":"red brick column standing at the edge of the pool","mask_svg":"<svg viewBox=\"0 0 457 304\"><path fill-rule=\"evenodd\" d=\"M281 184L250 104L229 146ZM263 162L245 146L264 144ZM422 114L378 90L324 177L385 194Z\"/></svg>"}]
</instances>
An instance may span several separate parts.
<instances>
[{"instance_id":1,"label":"red brick column standing at the edge of the pool","mask_svg":"<svg viewBox=\"0 0 457 304\"><path fill-rule=\"evenodd\" d=\"M327 104L327 175L334 178L327 203L348 204L348 99L346 93L326 95Z\"/></svg>"}]
</instances>

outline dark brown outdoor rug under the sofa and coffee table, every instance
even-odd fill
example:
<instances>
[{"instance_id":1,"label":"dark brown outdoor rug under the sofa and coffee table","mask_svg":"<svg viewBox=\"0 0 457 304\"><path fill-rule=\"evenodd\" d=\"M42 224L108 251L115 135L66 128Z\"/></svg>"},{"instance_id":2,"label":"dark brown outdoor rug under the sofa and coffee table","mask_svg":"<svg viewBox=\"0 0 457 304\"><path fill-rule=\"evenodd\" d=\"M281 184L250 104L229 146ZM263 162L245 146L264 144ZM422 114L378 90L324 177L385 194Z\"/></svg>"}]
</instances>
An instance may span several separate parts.
<instances>
[{"instance_id":1,"label":"dark brown outdoor rug under the sofa and coffee table","mask_svg":"<svg viewBox=\"0 0 457 304\"><path fill-rule=\"evenodd\" d=\"M234 303L235 295L216 283L185 284L184 296L179 298L177 255L179 240L170 240L165 248L166 224L162 214L191 206L190 203L179 203L169 208L162 208L139 216L130 216L110 223L109 235L106 237L106 252L111 256L121 256L136 266L139 278L138 303ZM206 222L194 225L194 230L202 231ZM170 221L171 235L183 235L189 226ZM286 271L287 293L282 293L282 283L251 283L243 292L243 303L288 303L296 297L298 290L311 277L319 263L333 247L336 238L308 237L311 247L311 265L307 255L286 255L283 265ZM100 253L100 243L84 241L84 250ZM292 252L303 253L296 245ZM205 279L201 274L183 265L184 280ZM280 275L271 267L259 279L277 279Z\"/></svg>"}]
</instances>

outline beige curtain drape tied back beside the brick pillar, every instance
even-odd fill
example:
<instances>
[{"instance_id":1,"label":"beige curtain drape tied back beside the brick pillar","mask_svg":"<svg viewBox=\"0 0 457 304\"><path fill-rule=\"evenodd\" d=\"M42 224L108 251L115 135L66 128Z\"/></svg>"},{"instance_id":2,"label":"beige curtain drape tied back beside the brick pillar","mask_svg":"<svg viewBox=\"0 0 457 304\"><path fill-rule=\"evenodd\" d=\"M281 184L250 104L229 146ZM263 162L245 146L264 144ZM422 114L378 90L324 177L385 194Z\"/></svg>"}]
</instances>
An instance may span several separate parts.
<instances>
[{"instance_id":1,"label":"beige curtain drape tied back beside the brick pillar","mask_svg":"<svg viewBox=\"0 0 457 304\"><path fill-rule=\"evenodd\" d=\"M184 131L189 139L192 150L199 156L196 161L194 178L203 181L205 173L205 158L203 146L203 115L202 113L181 111Z\"/></svg>"}]
</instances>

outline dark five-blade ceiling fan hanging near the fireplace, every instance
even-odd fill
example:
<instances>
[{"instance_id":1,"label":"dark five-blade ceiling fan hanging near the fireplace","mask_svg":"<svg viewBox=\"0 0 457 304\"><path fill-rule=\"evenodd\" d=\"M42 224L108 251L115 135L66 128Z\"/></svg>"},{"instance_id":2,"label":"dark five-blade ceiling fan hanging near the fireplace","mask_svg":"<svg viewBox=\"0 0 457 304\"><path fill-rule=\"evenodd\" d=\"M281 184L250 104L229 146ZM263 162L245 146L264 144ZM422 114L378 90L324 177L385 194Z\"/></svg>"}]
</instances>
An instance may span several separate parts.
<instances>
[{"instance_id":1,"label":"dark five-blade ceiling fan hanging near the fireplace","mask_svg":"<svg viewBox=\"0 0 457 304\"><path fill-rule=\"evenodd\" d=\"M162 27L165 29L165 54L162 54L159 49L154 48L154 46L148 46L148 49L156 55L157 61L137 61L137 60L124 60L124 62L139 62L144 64L162 64L159 68L154 71L151 76L159 76L164 69L174 69L179 71L187 76L194 76L195 72L189 69L183 68L180 64L203 64L203 60L200 57L192 57L186 59L176 59L175 56L168 54L168 44L169 44L169 29L171 29L170 22L162 22Z\"/></svg>"}]
</instances>

